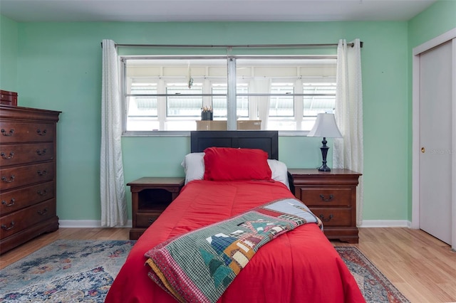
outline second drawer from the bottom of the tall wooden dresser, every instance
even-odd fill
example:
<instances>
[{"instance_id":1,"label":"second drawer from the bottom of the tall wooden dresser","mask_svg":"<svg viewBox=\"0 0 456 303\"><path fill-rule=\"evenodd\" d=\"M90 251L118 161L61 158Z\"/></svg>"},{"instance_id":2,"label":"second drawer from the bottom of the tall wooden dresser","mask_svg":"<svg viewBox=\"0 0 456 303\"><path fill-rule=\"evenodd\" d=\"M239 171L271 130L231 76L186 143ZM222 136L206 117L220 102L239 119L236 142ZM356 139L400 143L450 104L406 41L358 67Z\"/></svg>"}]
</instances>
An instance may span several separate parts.
<instances>
[{"instance_id":1,"label":"second drawer from the bottom of the tall wooden dresser","mask_svg":"<svg viewBox=\"0 0 456 303\"><path fill-rule=\"evenodd\" d=\"M46 201L54 197L54 182L28 186L0 193L0 215L19 211L33 204Z\"/></svg>"}]
</instances>

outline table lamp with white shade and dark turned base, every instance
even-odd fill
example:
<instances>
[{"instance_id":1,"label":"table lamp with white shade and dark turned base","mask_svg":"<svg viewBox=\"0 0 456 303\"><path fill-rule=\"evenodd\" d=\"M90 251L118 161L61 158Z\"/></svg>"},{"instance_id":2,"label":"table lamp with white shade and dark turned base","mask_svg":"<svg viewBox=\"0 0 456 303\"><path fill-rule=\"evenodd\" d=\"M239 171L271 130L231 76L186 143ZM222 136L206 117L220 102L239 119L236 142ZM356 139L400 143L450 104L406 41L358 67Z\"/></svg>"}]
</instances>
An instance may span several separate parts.
<instances>
[{"instance_id":1,"label":"table lamp with white shade and dark turned base","mask_svg":"<svg viewBox=\"0 0 456 303\"><path fill-rule=\"evenodd\" d=\"M337 127L336 118L334 117L334 114L318 114L316 116L316 122L314 124L314 127L312 127L309 134L307 134L307 137L323 137L323 141L321 142L323 146L320 147L321 156L323 158L323 164L320 167L318 167L318 171L331 171L331 169L326 165L326 155L328 154L329 149L329 147L326 146L326 143L328 143L326 141L326 137L342 137L342 134Z\"/></svg>"}]
</instances>

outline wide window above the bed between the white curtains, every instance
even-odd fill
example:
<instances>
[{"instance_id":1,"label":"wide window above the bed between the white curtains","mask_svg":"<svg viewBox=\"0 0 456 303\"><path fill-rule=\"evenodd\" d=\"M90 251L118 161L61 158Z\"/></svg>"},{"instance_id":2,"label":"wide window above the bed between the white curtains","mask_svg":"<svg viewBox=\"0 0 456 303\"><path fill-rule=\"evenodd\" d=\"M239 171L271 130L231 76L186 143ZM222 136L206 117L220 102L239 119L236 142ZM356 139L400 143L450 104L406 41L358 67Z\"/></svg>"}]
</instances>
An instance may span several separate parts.
<instances>
[{"instance_id":1,"label":"wide window above the bed between the white curtains","mask_svg":"<svg viewBox=\"0 0 456 303\"><path fill-rule=\"evenodd\" d=\"M336 101L334 57L124 57L123 63L127 134L195 130L203 108L223 125L260 120L261 129L308 131Z\"/></svg>"}]
</instances>

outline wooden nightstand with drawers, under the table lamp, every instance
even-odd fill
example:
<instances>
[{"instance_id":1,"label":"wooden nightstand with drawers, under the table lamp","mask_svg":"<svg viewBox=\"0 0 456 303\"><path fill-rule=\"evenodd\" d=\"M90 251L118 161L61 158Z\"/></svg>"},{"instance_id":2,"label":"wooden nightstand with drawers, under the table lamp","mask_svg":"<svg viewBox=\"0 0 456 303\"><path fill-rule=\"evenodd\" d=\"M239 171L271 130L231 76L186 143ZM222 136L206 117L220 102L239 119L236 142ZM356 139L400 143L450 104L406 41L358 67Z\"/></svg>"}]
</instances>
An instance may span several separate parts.
<instances>
[{"instance_id":1,"label":"wooden nightstand with drawers, under the table lamp","mask_svg":"<svg viewBox=\"0 0 456 303\"><path fill-rule=\"evenodd\" d=\"M361 174L348 169L289 169L294 195L321 218L330 240L358 243L356 186Z\"/></svg>"}]
</instances>

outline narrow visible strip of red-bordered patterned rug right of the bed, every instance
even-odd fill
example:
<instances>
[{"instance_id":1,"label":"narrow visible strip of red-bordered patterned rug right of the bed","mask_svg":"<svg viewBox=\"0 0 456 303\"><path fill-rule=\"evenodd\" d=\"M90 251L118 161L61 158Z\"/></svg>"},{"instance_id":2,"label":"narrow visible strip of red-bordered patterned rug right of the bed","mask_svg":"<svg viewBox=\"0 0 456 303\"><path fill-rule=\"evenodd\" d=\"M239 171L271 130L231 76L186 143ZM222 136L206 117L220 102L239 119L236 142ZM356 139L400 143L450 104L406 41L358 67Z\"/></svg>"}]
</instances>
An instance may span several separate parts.
<instances>
[{"instance_id":1,"label":"narrow visible strip of red-bordered patterned rug right of the bed","mask_svg":"<svg viewBox=\"0 0 456 303\"><path fill-rule=\"evenodd\" d=\"M358 283L366 302L410 302L380 270L355 247L336 247Z\"/></svg>"}]
</instances>

